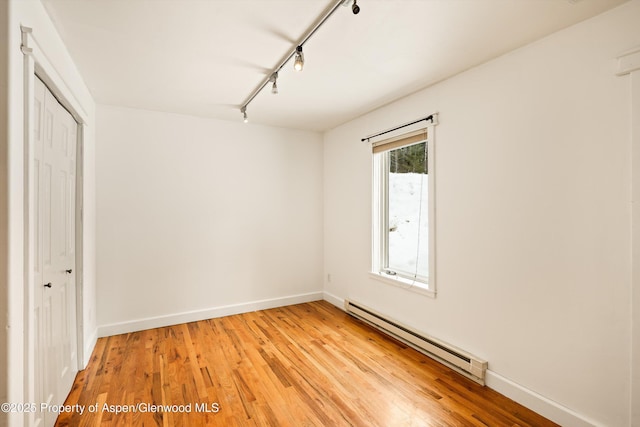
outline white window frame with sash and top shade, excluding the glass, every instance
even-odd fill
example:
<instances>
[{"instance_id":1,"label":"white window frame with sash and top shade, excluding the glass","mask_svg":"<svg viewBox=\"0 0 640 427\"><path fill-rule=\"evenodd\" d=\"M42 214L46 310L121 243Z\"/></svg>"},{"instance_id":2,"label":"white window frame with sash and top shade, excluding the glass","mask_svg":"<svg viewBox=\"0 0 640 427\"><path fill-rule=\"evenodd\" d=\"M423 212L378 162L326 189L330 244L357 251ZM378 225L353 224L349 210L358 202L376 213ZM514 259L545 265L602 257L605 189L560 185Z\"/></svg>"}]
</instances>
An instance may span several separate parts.
<instances>
[{"instance_id":1,"label":"white window frame with sash and top shade, excluding the glass","mask_svg":"<svg viewBox=\"0 0 640 427\"><path fill-rule=\"evenodd\" d=\"M409 132L396 134L391 138L380 141L372 141L372 262L370 277L382 281L386 284L398 286L406 290L424 294L430 297L436 296L436 251L435 251L435 125L434 120L427 126L413 127ZM426 136L419 141L415 141L417 131L425 132ZM398 145L399 140L404 138L410 140L406 144ZM385 261L388 260L388 232L389 229L389 152L394 149L408 147L426 142L427 144L427 167L428 167L428 233L429 233L429 274L424 280L420 277L406 277L399 274L388 274L385 272ZM381 149L383 145L389 145L388 149Z\"/></svg>"}]
</instances>

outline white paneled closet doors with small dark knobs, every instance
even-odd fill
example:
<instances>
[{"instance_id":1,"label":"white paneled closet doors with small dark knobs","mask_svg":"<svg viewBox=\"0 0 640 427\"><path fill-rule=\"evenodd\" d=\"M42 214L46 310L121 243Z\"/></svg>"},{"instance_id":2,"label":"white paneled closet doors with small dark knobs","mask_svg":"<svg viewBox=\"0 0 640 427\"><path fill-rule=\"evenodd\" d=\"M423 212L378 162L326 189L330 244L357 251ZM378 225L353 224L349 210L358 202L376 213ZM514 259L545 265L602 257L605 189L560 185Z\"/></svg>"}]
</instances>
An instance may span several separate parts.
<instances>
[{"instance_id":1,"label":"white paneled closet doors with small dark knobs","mask_svg":"<svg viewBox=\"0 0 640 427\"><path fill-rule=\"evenodd\" d=\"M39 403L60 405L78 371L75 288L77 123L39 79L34 103L35 381ZM38 424L53 425L43 412Z\"/></svg>"}]
</instances>

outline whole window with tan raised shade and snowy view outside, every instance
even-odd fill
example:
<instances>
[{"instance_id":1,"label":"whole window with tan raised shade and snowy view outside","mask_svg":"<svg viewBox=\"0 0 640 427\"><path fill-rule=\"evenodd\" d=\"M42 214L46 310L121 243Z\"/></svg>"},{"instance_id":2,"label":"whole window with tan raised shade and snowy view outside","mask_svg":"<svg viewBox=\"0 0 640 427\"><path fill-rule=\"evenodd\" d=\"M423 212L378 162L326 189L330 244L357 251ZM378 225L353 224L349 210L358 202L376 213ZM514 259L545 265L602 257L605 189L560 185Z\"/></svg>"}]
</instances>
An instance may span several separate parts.
<instances>
[{"instance_id":1,"label":"whole window with tan raised shade and snowy view outside","mask_svg":"<svg viewBox=\"0 0 640 427\"><path fill-rule=\"evenodd\" d=\"M433 127L372 144L376 279L435 295Z\"/></svg>"}]
</instances>

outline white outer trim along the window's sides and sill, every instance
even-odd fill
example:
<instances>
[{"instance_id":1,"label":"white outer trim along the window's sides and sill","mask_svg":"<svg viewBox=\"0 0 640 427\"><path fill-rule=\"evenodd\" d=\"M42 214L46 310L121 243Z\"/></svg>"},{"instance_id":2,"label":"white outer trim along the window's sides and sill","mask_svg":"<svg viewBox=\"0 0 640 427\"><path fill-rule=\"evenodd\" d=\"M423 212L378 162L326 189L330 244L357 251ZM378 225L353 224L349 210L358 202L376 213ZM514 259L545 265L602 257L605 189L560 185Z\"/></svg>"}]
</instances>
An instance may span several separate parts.
<instances>
[{"instance_id":1,"label":"white outer trim along the window's sides and sill","mask_svg":"<svg viewBox=\"0 0 640 427\"><path fill-rule=\"evenodd\" d=\"M387 219L385 218L388 213L388 206L386 206L386 200L381 200L382 192L379 191L380 187L384 187L387 184L387 181L382 176L382 171L384 170L383 165L381 164L383 160L376 158L374 154L372 157L373 162L373 176L372 176L372 262L371 262L371 271L369 272L369 277L380 281L382 283L397 286L399 288L405 289L410 292L419 293L422 295L427 295L429 297L436 297L436 250L435 250L435 242L436 242L436 210L435 210L435 199L436 199L436 168L435 168L435 126L438 124L437 121L437 113L433 114L433 120L431 123L428 123L427 126L424 124L420 127L414 127L413 129L405 129L406 131L411 131L415 129L426 129L427 130L427 150L429 153L428 156L428 168L429 168L429 278L427 282L420 281L419 279L406 278L399 275L390 275L386 274L383 269L384 263L384 248L387 247L386 244L386 224ZM375 142L372 141L372 145ZM384 189L385 192L388 192L388 188Z\"/></svg>"}]
</instances>

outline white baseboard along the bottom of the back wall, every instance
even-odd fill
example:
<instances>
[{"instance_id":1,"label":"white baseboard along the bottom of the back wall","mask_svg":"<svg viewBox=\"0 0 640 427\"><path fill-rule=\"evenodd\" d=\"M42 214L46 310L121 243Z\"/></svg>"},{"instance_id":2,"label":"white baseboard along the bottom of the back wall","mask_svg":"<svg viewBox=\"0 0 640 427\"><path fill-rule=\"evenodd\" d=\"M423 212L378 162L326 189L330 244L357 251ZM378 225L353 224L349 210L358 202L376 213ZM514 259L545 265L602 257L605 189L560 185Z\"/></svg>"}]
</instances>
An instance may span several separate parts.
<instances>
[{"instance_id":1,"label":"white baseboard along the bottom of the back wall","mask_svg":"<svg viewBox=\"0 0 640 427\"><path fill-rule=\"evenodd\" d=\"M129 332L143 331L145 329L162 328L164 326L180 323L196 322L216 317L230 316L233 314L249 313L251 311L266 310L269 308L284 307L286 305L301 304L304 302L318 301L323 298L322 291L307 294L290 295L280 298L251 301L241 304L231 304L221 307L212 307L204 310L193 310L183 313L168 314L165 316L147 317L127 322L111 323L98 326L98 336L126 334Z\"/></svg>"}]
</instances>

